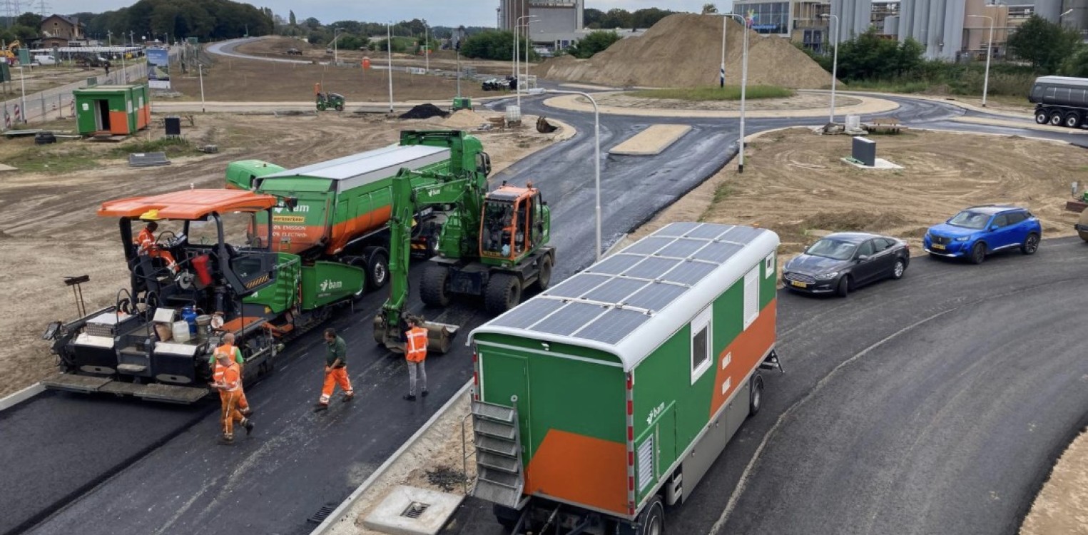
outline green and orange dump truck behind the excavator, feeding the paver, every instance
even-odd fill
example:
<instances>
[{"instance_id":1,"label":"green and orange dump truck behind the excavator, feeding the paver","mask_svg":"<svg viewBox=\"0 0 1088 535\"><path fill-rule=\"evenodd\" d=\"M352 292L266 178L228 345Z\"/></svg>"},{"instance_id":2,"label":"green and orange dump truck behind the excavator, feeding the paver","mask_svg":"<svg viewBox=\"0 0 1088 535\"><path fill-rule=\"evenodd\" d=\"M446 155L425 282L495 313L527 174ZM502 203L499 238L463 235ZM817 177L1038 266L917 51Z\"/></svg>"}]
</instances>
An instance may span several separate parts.
<instances>
[{"instance_id":1,"label":"green and orange dump truck behind the excavator, feeding the paver","mask_svg":"<svg viewBox=\"0 0 1088 535\"><path fill-rule=\"evenodd\" d=\"M283 199L272 214L272 248L307 260L331 260L363 269L367 285L388 281L388 221L393 177L401 169L426 186L436 174L480 174L491 160L475 137L460 130L408 130L400 142L335 160L285 170L256 160L227 165L227 187L252 189ZM436 251L444 220L441 206L420 203L411 248Z\"/></svg>"}]
</instances>

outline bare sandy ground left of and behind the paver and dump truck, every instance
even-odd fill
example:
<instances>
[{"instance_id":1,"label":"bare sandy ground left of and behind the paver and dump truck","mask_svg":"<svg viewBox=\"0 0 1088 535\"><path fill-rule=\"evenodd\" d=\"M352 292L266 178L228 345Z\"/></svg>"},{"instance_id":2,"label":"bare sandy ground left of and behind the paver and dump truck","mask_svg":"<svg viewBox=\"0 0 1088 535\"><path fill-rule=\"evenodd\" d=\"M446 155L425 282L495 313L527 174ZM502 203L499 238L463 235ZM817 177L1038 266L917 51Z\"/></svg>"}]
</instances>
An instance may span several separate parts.
<instances>
[{"instance_id":1,"label":"bare sandy ground left of and behind the paver and dump truck","mask_svg":"<svg viewBox=\"0 0 1088 535\"><path fill-rule=\"evenodd\" d=\"M534 123L535 117L530 119L526 124ZM219 188L231 161L259 159L298 166L396 142L401 129L442 128L441 121L386 121L381 115L198 115L197 126L186 125L183 134L197 145L217 144L220 152L196 155L200 153L194 151L191 157L172 158L170 166L153 169L132 169L124 160L104 159L118 147L113 144L66 141L36 147L33 138L4 140L0 163L26 151L48 151L60 161L65 153L89 149L103 159L96 169L64 174L0 174L0 206L4 207L0 212L0 285L8 294L0 300L0 397L54 373L54 358L39 336L49 322L76 318L64 276L90 275L83 288L88 311L112 304L118 289L127 285L116 222L95 215L101 202L189 185ZM71 129L74 124L58 122L50 127ZM151 137L162 135L157 129ZM477 135L498 172L564 136L565 129L545 135L526 127Z\"/></svg>"}]
</instances>

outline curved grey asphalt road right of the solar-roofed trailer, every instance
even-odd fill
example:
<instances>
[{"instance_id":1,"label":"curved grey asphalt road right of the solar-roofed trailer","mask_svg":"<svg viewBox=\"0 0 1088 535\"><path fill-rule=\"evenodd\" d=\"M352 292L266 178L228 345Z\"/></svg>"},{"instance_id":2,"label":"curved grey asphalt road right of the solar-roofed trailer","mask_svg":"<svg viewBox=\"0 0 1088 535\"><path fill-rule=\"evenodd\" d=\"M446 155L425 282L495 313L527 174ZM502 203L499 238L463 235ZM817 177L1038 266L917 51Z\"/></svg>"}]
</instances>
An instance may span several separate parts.
<instances>
[{"instance_id":1,"label":"curved grey asphalt road right of the solar-roofed trailer","mask_svg":"<svg viewBox=\"0 0 1088 535\"><path fill-rule=\"evenodd\" d=\"M1088 423L1086 256L1051 239L978 266L916 258L846 299L780 291L787 373L765 372L763 410L666 530L1015 534ZM470 499L444 533L503 531Z\"/></svg>"}]
</instances>

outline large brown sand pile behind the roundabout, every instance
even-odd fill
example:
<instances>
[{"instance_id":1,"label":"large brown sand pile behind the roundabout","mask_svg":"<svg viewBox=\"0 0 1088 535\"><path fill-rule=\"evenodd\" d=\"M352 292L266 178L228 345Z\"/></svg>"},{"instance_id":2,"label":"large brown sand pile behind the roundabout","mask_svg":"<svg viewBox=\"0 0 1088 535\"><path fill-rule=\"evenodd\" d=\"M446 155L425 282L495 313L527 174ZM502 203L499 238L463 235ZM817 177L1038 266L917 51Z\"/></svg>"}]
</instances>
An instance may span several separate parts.
<instances>
[{"instance_id":1,"label":"large brown sand pile behind the roundabout","mask_svg":"<svg viewBox=\"0 0 1088 535\"><path fill-rule=\"evenodd\" d=\"M740 85L744 27L734 20L726 32L726 83ZM640 37L621 39L588 60L569 55L536 67L547 79L645 87L717 85L721 65L721 16L669 15ZM749 84L818 89L831 77L789 40L749 36Z\"/></svg>"}]
</instances>

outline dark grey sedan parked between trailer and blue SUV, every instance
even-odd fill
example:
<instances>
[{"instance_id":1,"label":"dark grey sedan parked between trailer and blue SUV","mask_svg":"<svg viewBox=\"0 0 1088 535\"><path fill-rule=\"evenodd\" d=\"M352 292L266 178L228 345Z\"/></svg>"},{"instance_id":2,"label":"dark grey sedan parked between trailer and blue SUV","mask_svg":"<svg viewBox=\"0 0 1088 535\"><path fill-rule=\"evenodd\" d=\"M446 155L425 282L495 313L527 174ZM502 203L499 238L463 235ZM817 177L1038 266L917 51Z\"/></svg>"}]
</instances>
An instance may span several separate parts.
<instances>
[{"instance_id":1,"label":"dark grey sedan parked between trailer and blue SUV","mask_svg":"<svg viewBox=\"0 0 1088 535\"><path fill-rule=\"evenodd\" d=\"M782 268L782 284L807 294L846 297L883 278L902 278L911 262L906 241L868 233L837 233L808 246Z\"/></svg>"}]
</instances>

